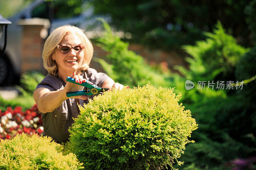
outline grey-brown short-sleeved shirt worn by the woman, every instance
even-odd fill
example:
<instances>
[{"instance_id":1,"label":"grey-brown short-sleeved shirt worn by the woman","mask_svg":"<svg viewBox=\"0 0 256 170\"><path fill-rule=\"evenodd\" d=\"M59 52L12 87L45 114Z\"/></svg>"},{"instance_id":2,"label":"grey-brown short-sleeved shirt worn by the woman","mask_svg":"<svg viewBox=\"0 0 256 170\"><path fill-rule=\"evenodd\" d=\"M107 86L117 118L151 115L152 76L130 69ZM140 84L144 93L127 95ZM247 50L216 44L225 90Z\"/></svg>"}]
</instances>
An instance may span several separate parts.
<instances>
[{"instance_id":1,"label":"grey-brown short-sleeved shirt worn by the woman","mask_svg":"<svg viewBox=\"0 0 256 170\"><path fill-rule=\"evenodd\" d=\"M95 69L89 68L82 74L86 80L91 81L93 84L102 87L103 82L109 78L105 73L98 73ZM58 76L47 74L46 77L36 86L45 87L50 91L59 91L65 87L66 83ZM56 108L53 112L42 113L42 121L44 126L43 136L50 136L57 143L67 142L70 133L69 127L74 123L73 118L79 114L77 103L81 106L89 103L88 99L93 99L95 95L87 96L87 100L70 98L62 102L60 107Z\"/></svg>"}]
</instances>

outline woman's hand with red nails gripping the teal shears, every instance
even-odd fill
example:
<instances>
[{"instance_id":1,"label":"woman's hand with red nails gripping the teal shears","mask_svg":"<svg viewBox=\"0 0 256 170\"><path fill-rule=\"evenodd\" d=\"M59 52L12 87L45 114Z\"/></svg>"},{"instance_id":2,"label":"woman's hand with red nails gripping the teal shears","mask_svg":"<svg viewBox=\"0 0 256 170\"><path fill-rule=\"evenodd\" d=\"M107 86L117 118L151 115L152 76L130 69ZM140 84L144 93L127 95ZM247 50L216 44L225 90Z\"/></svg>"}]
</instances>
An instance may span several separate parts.
<instances>
[{"instance_id":1,"label":"woman's hand with red nails gripping the teal shears","mask_svg":"<svg viewBox=\"0 0 256 170\"><path fill-rule=\"evenodd\" d=\"M79 83L79 84L85 83L87 81L85 78L83 78L83 76L75 75L75 73L73 73L70 77L74 78L76 83ZM67 84L65 85L63 90L65 90L65 92L67 93L67 92L81 91L83 89L84 89L84 86L82 86L82 85L77 85L75 83L67 82ZM87 96L85 96L85 95L72 96L72 97L68 97L68 98L87 100Z\"/></svg>"}]
</instances>

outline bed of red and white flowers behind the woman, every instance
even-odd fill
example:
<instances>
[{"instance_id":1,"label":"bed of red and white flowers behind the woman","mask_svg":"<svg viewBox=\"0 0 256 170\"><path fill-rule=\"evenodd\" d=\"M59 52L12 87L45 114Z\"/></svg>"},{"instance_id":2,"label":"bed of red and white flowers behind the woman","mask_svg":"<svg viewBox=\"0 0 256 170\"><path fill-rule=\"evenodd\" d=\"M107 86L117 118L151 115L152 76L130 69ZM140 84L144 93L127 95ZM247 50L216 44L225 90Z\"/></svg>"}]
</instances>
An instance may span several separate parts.
<instances>
[{"instance_id":1,"label":"bed of red and white flowers behind the woman","mask_svg":"<svg viewBox=\"0 0 256 170\"><path fill-rule=\"evenodd\" d=\"M43 122L36 104L30 109L22 112L22 107L16 106L14 109L7 107L4 112L0 110L0 138L9 139L21 134L29 135L43 133Z\"/></svg>"}]
</instances>

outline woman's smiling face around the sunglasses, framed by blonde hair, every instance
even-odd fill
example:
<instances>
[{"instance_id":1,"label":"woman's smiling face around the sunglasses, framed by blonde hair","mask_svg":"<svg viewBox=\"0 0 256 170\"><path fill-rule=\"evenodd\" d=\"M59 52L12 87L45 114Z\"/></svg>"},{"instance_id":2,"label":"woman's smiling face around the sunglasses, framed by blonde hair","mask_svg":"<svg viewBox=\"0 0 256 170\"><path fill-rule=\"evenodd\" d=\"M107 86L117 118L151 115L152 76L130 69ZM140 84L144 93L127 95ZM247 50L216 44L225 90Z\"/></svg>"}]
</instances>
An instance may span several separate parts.
<instances>
[{"instance_id":1,"label":"woman's smiling face around the sunglasses, framed by blonde hair","mask_svg":"<svg viewBox=\"0 0 256 170\"><path fill-rule=\"evenodd\" d=\"M60 44L66 44L74 46L76 44L82 44L81 39L74 33L67 33ZM84 50L77 52L72 48L67 54L63 54L59 49L55 49L52 54L52 60L55 60L58 67L59 74L66 73L68 75L76 72L80 73L80 67L84 60Z\"/></svg>"}]
</instances>

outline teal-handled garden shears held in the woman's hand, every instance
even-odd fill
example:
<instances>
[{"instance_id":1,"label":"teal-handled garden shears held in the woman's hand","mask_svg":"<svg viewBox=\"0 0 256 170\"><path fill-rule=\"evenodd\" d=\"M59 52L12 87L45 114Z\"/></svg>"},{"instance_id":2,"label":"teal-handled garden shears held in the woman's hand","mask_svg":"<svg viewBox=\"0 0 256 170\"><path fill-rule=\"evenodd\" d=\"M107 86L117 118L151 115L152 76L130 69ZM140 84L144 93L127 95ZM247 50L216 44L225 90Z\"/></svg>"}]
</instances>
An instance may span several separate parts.
<instances>
[{"instance_id":1,"label":"teal-handled garden shears held in the woman's hand","mask_svg":"<svg viewBox=\"0 0 256 170\"><path fill-rule=\"evenodd\" d=\"M93 94L99 94L99 93L103 94L103 92L108 90L108 88L98 87L97 85L93 84L89 80L86 80L86 82L82 83L82 84L76 83L75 78L67 77L66 80L70 83L74 83L74 84L77 84L77 85L82 85L82 86L85 87L85 90L82 90L82 91L67 92L66 93L67 97L81 96L81 95L91 96Z\"/></svg>"}]
</instances>

